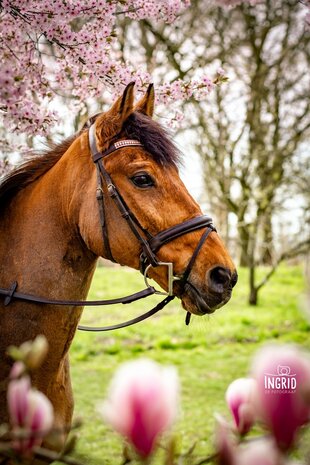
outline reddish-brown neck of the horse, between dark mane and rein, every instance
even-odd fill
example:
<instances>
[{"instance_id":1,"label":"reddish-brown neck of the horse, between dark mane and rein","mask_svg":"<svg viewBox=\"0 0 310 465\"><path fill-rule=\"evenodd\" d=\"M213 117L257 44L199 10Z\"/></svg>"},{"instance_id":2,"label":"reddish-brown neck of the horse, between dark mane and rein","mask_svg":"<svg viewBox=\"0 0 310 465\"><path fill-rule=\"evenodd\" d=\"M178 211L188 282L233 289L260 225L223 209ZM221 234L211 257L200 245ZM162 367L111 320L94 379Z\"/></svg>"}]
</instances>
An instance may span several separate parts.
<instances>
[{"instance_id":1,"label":"reddish-brown neck of the horse, between dark mane and rein","mask_svg":"<svg viewBox=\"0 0 310 465\"><path fill-rule=\"evenodd\" d=\"M85 150L81 154L83 143L83 138L76 140L47 173L10 202L0 226L1 287L17 281L22 292L86 297L97 257L77 228L79 199L91 178L90 157Z\"/></svg>"}]
</instances>

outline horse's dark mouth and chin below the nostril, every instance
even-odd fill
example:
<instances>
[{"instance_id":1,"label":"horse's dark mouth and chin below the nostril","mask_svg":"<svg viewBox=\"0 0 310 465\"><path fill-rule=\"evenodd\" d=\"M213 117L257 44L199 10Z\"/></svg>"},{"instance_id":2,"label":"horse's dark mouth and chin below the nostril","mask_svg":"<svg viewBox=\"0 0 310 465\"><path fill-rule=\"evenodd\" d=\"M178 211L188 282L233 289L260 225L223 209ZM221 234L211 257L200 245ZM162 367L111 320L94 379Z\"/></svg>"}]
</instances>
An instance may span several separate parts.
<instances>
[{"instance_id":1,"label":"horse's dark mouth and chin below the nostril","mask_svg":"<svg viewBox=\"0 0 310 465\"><path fill-rule=\"evenodd\" d=\"M190 282L184 287L184 293L181 296L183 308L195 315L210 315L215 310L223 307L231 297L231 289L225 295L221 294L201 294L199 290Z\"/></svg>"}]
</instances>

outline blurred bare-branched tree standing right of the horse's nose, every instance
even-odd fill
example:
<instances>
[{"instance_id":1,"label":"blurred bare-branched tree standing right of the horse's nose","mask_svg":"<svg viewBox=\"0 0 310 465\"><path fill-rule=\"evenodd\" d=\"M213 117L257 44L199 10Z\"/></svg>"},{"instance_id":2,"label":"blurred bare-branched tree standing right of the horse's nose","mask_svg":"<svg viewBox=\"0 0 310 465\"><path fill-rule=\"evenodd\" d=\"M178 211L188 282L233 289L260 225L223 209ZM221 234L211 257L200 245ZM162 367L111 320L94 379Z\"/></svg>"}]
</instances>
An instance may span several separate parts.
<instances>
[{"instance_id":1,"label":"blurred bare-branched tree standing right of the horse's nose","mask_svg":"<svg viewBox=\"0 0 310 465\"><path fill-rule=\"evenodd\" d=\"M222 194L226 211L237 217L240 263L250 269L252 304L279 261L309 244L309 230L295 229L299 234L287 249L275 250L272 228L309 135L309 37L300 13L293 1L266 2L255 12L250 5L224 12L212 23L222 38L219 57L237 85L235 96L232 87L215 91L215 111L202 103L199 145L206 178L213 180L214 193ZM231 99L238 102L237 115ZM257 282L260 263L271 270Z\"/></svg>"}]
</instances>

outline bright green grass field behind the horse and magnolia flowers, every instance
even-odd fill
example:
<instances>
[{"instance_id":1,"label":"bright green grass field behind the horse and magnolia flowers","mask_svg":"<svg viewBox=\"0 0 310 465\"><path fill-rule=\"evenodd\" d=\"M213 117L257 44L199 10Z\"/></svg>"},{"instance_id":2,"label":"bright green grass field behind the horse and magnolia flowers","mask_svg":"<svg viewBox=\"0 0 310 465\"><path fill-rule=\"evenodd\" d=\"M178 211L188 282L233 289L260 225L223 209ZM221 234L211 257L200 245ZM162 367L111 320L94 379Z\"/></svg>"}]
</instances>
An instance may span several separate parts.
<instances>
[{"instance_id":1,"label":"bright green grass field behind the horse and magnolia flowers","mask_svg":"<svg viewBox=\"0 0 310 465\"><path fill-rule=\"evenodd\" d=\"M246 376L252 354L264 343L294 342L310 347L310 324L302 307L304 278L299 267L281 267L263 289L257 307L247 305L247 275L239 270L231 302L211 317L194 317L173 301L162 313L132 328L110 333L78 332L71 349L75 416L82 418L76 456L85 464L120 463L121 441L102 422L97 406L115 369L124 361L148 357L177 367L182 409L176 425L178 447L195 454L212 451L214 413L228 416L224 394L235 378ZM123 296L143 287L139 273L98 268L89 298ZM130 306L85 310L84 324L112 324L151 308L149 298Z\"/></svg>"}]
</instances>

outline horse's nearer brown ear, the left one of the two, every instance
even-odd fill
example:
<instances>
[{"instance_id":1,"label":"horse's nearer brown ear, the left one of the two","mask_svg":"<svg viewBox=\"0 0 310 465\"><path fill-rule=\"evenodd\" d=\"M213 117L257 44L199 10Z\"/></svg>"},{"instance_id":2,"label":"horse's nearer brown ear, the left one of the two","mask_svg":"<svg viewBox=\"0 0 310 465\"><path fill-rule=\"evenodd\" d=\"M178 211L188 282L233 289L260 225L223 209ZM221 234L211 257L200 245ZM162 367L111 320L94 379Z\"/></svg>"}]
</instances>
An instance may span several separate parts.
<instances>
[{"instance_id":1,"label":"horse's nearer brown ear, the left one of the two","mask_svg":"<svg viewBox=\"0 0 310 465\"><path fill-rule=\"evenodd\" d=\"M111 139L121 131L124 122L133 113L134 86L134 82L128 84L123 95L116 100L110 110L97 118L96 135L99 150L108 148Z\"/></svg>"}]
</instances>

